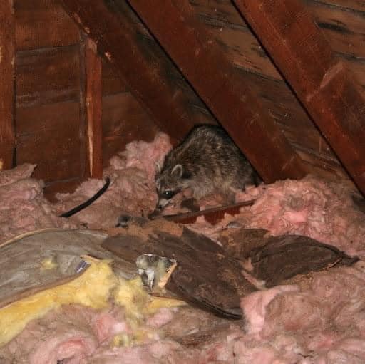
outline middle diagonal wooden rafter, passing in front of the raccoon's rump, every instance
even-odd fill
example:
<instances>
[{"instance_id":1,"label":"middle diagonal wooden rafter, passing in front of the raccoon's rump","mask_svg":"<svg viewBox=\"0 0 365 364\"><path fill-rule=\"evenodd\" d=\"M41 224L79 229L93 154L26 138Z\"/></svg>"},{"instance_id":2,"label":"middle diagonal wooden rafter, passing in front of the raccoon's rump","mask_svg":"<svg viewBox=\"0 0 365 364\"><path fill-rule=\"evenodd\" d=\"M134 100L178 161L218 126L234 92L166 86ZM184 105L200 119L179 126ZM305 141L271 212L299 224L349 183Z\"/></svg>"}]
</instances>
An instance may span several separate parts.
<instances>
[{"instance_id":1,"label":"middle diagonal wooden rafter, passing in front of the raccoon's rump","mask_svg":"<svg viewBox=\"0 0 365 364\"><path fill-rule=\"evenodd\" d=\"M189 2L128 2L265 182L303 177L301 160Z\"/></svg>"}]
</instances>

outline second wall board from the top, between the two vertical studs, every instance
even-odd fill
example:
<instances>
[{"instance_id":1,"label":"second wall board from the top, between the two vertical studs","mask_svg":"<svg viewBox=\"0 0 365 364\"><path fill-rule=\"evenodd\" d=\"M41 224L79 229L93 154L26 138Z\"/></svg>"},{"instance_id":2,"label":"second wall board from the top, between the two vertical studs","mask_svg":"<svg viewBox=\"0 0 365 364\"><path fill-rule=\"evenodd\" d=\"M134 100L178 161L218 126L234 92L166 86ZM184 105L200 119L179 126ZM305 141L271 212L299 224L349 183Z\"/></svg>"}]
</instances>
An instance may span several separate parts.
<instances>
[{"instance_id":1,"label":"second wall board from the top, between the two vertical studs","mask_svg":"<svg viewBox=\"0 0 365 364\"><path fill-rule=\"evenodd\" d=\"M16 106L80 98L79 46L16 53Z\"/></svg>"}]
</instances>

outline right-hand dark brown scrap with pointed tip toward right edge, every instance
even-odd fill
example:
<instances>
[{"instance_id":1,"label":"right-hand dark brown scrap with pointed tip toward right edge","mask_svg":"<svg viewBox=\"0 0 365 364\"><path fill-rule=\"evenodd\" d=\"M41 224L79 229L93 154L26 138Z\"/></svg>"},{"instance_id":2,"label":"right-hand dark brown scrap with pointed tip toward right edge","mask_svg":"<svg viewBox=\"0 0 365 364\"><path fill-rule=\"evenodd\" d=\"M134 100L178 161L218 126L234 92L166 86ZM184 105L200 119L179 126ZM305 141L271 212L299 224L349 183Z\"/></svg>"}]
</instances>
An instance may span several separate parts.
<instances>
[{"instance_id":1,"label":"right-hand dark brown scrap with pointed tip toward right edge","mask_svg":"<svg viewBox=\"0 0 365 364\"><path fill-rule=\"evenodd\" d=\"M263 280L267 288L297 274L320 271L336 264L351 265L359 260L308 236L268 236L262 229L242 228L231 236L222 236L220 241L230 256L246 261L250 274Z\"/></svg>"}]
</instances>

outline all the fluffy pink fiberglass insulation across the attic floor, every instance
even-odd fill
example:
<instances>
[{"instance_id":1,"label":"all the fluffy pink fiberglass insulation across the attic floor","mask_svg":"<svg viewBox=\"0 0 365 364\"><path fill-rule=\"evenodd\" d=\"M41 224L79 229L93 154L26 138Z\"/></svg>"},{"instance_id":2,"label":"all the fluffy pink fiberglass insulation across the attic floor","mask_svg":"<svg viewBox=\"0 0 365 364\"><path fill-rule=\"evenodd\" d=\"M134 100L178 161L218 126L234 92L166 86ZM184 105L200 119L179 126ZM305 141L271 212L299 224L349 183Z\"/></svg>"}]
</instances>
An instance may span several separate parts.
<instances>
[{"instance_id":1,"label":"all the fluffy pink fiberglass insulation across the attic floor","mask_svg":"<svg viewBox=\"0 0 365 364\"><path fill-rule=\"evenodd\" d=\"M30 178L34 165L0 172L2 236L71 223L113 227L120 214L150 212L156 202L155 162L162 162L169 149L163 134L151 143L128 145L104 170L112 181L108 191L72 219L61 219L58 214L91 197L102 187L101 180L88 180L73 194L60 194L60 201L52 205L43 198L42 182ZM232 222L268 229L273 235L302 234L364 259L364 214L354 209L349 190L341 184L314 177L285 180L237 194L237 202L248 199L257 201L242 208L239 215L227 215L215 227L201 218L192 228L215 240L222 227ZM202 204L211 206L217 201L212 197ZM120 309L95 312L70 306L29 323L0 348L0 360L40 364L56 363L54 360L63 360L63 364L120 360L133 364L365 363L364 287L364 261L359 261L353 267L335 267L302 277L297 284L242 298L245 326L227 321L222 325L193 308L161 310L145 322L145 329L152 333L145 342L116 348L110 346L113 336L130 334ZM211 336L200 345L185 345L180 340L209 328Z\"/></svg>"}]
</instances>

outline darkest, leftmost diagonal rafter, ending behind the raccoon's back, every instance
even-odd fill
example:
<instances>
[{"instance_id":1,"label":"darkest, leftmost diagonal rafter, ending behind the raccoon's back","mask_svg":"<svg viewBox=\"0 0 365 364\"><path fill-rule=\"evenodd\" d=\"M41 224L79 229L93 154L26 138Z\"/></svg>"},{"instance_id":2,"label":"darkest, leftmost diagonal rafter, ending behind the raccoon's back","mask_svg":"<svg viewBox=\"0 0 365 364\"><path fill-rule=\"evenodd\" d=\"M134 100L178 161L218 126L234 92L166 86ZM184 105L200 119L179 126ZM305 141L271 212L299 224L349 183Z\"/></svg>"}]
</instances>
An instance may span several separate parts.
<instances>
[{"instance_id":1,"label":"darkest, leftmost diagonal rafter, ending behind the raccoon's back","mask_svg":"<svg viewBox=\"0 0 365 364\"><path fill-rule=\"evenodd\" d=\"M194 124L189 100L166 77L170 69L145 46L128 11L107 0L60 0L68 14L90 36L155 123L175 139ZM129 9L129 7L128 7ZM129 9L129 11L131 11Z\"/></svg>"}]
</instances>

